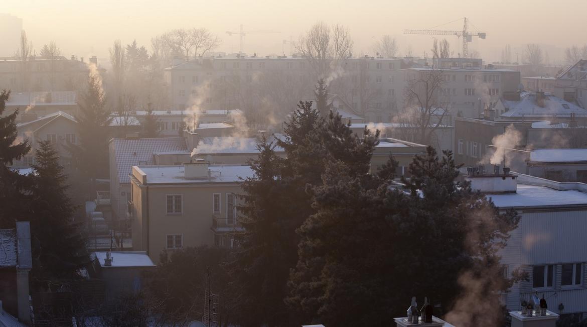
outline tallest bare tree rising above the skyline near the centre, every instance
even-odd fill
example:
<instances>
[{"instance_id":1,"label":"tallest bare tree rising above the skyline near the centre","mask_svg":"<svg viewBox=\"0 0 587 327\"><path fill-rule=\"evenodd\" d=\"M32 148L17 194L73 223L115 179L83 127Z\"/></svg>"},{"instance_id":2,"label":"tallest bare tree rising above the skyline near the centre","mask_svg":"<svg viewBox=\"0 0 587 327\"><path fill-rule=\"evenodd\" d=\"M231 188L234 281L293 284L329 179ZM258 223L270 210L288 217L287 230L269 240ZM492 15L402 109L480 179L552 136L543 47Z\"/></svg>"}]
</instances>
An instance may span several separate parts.
<instances>
[{"instance_id":1,"label":"tallest bare tree rising above the skyline near the centre","mask_svg":"<svg viewBox=\"0 0 587 327\"><path fill-rule=\"evenodd\" d=\"M295 46L309 59L317 77L325 78L340 59L351 55L353 41L348 28L318 22L300 36Z\"/></svg>"}]
</instances>

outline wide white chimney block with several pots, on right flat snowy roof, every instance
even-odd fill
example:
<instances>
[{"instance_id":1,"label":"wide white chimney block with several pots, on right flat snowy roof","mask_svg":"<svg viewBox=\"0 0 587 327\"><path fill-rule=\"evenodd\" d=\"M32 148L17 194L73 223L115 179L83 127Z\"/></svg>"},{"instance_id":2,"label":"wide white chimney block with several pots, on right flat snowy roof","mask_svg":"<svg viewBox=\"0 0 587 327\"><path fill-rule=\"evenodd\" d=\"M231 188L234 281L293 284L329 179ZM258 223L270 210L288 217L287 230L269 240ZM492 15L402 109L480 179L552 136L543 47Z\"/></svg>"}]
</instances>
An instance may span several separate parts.
<instances>
[{"instance_id":1,"label":"wide white chimney block with several pots, on right flat snowy roof","mask_svg":"<svg viewBox=\"0 0 587 327\"><path fill-rule=\"evenodd\" d=\"M483 167L467 167L465 181L471 183L471 189L481 193L515 193L518 189L517 175L510 173L510 168L504 168L500 173L500 166L495 165L493 173L485 173Z\"/></svg>"}]
</instances>

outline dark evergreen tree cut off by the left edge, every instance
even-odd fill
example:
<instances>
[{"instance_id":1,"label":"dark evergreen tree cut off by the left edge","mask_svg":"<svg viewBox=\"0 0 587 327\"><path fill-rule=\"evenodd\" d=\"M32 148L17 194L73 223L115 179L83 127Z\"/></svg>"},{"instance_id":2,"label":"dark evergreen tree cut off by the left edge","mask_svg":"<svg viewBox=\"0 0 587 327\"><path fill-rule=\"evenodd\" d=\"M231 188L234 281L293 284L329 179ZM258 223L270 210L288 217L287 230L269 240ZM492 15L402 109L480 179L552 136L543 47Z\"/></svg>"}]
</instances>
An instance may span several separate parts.
<instances>
[{"instance_id":1,"label":"dark evergreen tree cut off by the left edge","mask_svg":"<svg viewBox=\"0 0 587 327\"><path fill-rule=\"evenodd\" d=\"M30 186L29 176L19 175L9 166L31 150L28 139L19 139L16 129L18 111L3 115L10 91L0 92L0 229L14 228L15 221L28 220L25 189Z\"/></svg>"}]
</instances>

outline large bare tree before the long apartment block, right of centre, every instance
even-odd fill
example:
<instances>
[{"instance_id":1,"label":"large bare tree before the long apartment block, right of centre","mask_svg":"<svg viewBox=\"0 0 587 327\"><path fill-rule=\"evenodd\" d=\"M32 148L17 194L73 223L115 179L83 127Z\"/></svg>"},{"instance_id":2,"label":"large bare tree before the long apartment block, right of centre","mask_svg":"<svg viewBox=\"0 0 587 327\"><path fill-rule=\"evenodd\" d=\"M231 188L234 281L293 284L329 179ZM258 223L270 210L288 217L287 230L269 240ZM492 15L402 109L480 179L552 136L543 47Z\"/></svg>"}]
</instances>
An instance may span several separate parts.
<instances>
[{"instance_id":1,"label":"large bare tree before the long apartment block, right of centre","mask_svg":"<svg viewBox=\"0 0 587 327\"><path fill-rule=\"evenodd\" d=\"M432 68L409 76L404 89L404 111L396 121L413 131L413 140L431 145L436 130L446 124L450 104L444 92L443 71Z\"/></svg>"}]
</instances>

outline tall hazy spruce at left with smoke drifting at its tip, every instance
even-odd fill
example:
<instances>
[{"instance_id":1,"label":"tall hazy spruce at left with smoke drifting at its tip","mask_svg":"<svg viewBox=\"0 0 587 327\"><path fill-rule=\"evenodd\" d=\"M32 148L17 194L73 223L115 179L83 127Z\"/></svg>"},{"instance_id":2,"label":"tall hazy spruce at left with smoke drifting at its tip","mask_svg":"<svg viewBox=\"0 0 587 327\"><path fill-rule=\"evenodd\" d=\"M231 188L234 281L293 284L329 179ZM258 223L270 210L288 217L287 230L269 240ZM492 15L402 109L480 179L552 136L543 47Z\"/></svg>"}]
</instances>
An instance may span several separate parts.
<instances>
[{"instance_id":1,"label":"tall hazy spruce at left with smoke drifting at its tip","mask_svg":"<svg viewBox=\"0 0 587 327\"><path fill-rule=\"evenodd\" d=\"M79 145L72 145L72 159L77 172L89 182L88 193L94 196L96 179L107 178L109 169L108 126L112 121L106 110L102 81L97 74L90 74L87 91L78 103L80 115L77 119Z\"/></svg>"}]
</instances>

